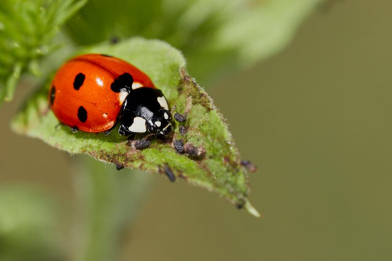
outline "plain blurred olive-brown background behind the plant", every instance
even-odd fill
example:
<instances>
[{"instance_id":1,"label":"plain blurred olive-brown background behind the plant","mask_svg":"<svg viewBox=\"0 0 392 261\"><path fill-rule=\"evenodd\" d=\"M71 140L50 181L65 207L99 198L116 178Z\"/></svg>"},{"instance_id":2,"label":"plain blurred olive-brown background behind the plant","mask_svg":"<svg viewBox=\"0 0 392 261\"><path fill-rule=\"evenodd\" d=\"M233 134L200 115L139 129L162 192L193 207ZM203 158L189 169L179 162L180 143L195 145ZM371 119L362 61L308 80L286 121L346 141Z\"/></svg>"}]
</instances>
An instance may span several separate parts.
<instances>
[{"instance_id":1,"label":"plain blurred olive-brown background behind the plant","mask_svg":"<svg viewBox=\"0 0 392 261\"><path fill-rule=\"evenodd\" d=\"M279 55L207 86L259 167L250 198L263 217L155 175L122 259L390 260L390 10L387 0L329 1ZM0 182L72 205L70 157L10 131L28 89L0 110Z\"/></svg>"}]
</instances>

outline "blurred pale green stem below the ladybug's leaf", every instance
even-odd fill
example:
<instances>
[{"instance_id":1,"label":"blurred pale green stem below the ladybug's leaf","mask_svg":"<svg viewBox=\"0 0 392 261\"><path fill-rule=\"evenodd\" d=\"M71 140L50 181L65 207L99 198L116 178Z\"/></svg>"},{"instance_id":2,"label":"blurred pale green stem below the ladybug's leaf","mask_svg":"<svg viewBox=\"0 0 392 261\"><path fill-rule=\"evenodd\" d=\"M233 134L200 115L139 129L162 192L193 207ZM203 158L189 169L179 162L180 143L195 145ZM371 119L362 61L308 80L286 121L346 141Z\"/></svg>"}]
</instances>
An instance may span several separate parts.
<instances>
[{"instance_id":1,"label":"blurred pale green stem below the ladybug's leaf","mask_svg":"<svg viewBox=\"0 0 392 261\"><path fill-rule=\"evenodd\" d=\"M135 218L152 175L117 171L87 156L76 159L78 215L75 222L75 258L78 261L117 260L121 236Z\"/></svg>"}]
</instances>

